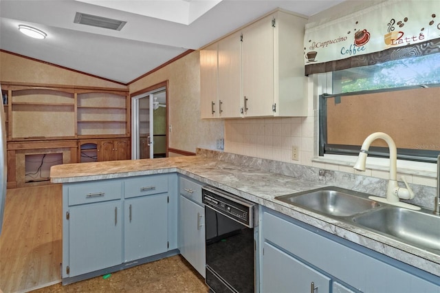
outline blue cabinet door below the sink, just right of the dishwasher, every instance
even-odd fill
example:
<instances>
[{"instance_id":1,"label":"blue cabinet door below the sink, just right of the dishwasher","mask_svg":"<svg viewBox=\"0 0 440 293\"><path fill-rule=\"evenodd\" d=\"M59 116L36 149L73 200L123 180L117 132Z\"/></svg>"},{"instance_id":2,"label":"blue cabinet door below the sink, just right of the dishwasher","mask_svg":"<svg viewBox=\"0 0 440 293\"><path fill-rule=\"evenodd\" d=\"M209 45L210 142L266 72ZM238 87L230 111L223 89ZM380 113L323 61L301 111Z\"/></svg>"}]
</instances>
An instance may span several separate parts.
<instances>
[{"instance_id":1,"label":"blue cabinet door below the sink, just right of the dishwasher","mask_svg":"<svg viewBox=\"0 0 440 293\"><path fill-rule=\"evenodd\" d=\"M331 279L328 276L267 242L263 248L262 278L262 292L330 292ZM317 289L311 290L312 286Z\"/></svg>"}]
</instances>

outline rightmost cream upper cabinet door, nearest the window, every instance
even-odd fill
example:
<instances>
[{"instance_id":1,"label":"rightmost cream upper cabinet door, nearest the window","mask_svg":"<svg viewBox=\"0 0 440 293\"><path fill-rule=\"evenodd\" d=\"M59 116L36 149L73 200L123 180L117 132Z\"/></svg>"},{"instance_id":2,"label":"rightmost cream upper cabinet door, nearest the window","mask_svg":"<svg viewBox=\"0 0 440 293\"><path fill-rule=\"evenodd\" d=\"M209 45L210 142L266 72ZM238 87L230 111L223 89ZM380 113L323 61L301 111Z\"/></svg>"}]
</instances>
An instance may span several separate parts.
<instances>
[{"instance_id":1,"label":"rightmost cream upper cabinet door, nearest the window","mask_svg":"<svg viewBox=\"0 0 440 293\"><path fill-rule=\"evenodd\" d=\"M274 28L272 16L265 17L243 29L241 58L244 115L273 116Z\"/></svg>"}]
</instances>

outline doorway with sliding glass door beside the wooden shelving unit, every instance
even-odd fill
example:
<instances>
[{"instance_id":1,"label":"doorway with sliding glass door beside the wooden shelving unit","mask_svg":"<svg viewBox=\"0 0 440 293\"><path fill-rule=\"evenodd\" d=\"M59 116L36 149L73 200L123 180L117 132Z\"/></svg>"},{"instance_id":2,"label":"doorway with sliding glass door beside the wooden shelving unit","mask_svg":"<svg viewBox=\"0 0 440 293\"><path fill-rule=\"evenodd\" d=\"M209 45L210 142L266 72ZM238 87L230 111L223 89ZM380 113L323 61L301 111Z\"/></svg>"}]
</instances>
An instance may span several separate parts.
<instances>
[{"instance_id":1,"label":"doorway with sliding glass door beside the wooden shelving unit","mask_svg":"<svg viewBox=\"0 0 440 293\"><path fill-rule=\"evenodd\" d=\"M132 159L168 157L166 96L166 83L132 95Z\"/></svg>"}]
</instances>

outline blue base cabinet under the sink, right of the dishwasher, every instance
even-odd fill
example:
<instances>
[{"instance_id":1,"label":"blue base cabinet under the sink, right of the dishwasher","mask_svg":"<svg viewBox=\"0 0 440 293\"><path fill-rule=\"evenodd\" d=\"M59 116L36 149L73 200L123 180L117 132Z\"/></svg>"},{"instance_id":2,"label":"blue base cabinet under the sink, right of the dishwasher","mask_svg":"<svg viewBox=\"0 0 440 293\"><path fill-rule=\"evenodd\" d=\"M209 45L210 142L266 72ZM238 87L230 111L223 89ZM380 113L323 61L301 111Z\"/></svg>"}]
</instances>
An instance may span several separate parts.
<instances>
[{"instance_id":1,"label":"blue base cabinet under the sink, right of the dishwasher","mask_svg":"<svg viewBox=\"0 0 440 293\"><path fill-rule=\"evenodd\" d=\"M440 292L438 276L263 210L263 292Z\"/></svg>"}]
</instances>

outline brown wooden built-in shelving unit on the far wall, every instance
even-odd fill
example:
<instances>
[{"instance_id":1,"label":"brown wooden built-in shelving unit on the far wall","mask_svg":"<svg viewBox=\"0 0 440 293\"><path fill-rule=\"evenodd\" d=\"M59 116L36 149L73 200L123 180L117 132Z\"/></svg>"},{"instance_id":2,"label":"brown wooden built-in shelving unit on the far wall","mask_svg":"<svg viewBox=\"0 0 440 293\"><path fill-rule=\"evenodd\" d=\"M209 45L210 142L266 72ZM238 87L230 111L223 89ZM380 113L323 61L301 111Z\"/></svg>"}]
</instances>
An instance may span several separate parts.
<instances>
[{"instance_id":1,"label":"brown wooden built-in shelving unit on the far wall","mask_svg":"<svg viewBox=\"0 0 440 293\"><path fill-rule=\"evenodd\" d=\"M5 82L1 89L8 188L28 186L26 155L61 153L63 164L131 158L128 89Z\"/></svg>"}]
</instances>

